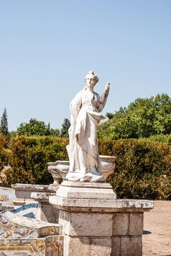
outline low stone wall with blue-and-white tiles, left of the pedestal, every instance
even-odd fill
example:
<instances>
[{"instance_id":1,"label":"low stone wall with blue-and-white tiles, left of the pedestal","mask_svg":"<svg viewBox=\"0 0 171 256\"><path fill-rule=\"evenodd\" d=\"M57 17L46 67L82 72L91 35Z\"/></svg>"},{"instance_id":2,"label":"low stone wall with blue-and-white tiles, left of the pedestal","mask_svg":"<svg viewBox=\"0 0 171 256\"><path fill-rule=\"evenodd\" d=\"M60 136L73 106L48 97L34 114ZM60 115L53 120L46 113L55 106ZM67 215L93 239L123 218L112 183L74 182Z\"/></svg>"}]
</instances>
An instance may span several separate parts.
<instances>
[{"instance_id":1,"label":"low stone wall with blue-and-white tiles, left of the pedestal","mask_svg":"<svg viewBox=\"0 0 171 256\"><path fill-rule=\"evenodd\" d=\"M0 187L0 202L3 204L4 210L9 210L18 215L22 215L28 218L40 219L48 222L58 222L58 218L46 218L46 212L50 215L49 196L52 195L54 187L48 185L35 185L35 184L14 184L12 188ZM39 198L31 198L32 192L44 193L48 198L46 204L39 204ZM39 206L39 207L38 207ZM52 205L51 205L52 206ZM42 212L44 212L44 217Z\"/></svg>"}]
</instances>

